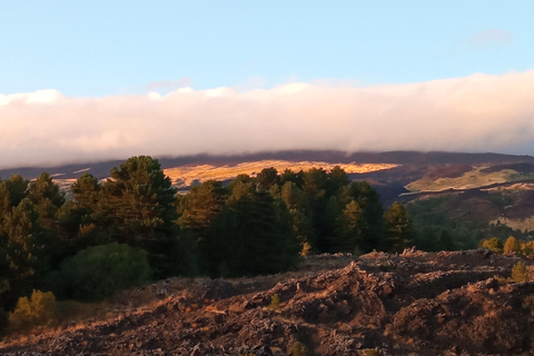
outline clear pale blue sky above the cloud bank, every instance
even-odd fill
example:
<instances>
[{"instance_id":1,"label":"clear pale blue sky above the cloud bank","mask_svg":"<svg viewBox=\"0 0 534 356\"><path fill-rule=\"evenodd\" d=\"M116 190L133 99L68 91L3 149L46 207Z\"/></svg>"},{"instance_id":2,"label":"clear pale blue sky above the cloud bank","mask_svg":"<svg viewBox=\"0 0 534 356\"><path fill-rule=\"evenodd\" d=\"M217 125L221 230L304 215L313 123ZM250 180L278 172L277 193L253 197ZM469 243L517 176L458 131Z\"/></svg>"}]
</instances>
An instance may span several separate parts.
<instances>
[{"instance_id":1,"label":"clear pale blue sky above the cloud bank","mask_svg":"<svg viewBox=\"0 0 534 356\"><path fill-rule=\"evenodd\" d=\"M1 1L0 93L360 86L532 69L532 1Z\"/></svg>"}]
</instances>

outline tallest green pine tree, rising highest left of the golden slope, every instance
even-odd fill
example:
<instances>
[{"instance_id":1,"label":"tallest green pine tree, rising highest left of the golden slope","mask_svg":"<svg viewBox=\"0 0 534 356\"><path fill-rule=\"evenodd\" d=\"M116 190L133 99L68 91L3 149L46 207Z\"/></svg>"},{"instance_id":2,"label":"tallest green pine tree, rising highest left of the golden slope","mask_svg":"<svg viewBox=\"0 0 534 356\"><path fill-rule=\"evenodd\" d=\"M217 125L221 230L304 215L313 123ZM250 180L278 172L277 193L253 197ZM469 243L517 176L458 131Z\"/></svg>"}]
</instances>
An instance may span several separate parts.
<instances>
[{"instance_id":1,"label":"tallest green pine tree, rising highest left of the golden slope","mask_svg":"<svg viewBox=\"0 0 534 356\"><path fill-rule=\"evenodd\" d=\"M149 253L159 278L175 268L178 248L176 189L157 159L131 157L111 169L99 194L99 209L111 218L108 229L115 240Z\"/></svg>"}]
</instances>

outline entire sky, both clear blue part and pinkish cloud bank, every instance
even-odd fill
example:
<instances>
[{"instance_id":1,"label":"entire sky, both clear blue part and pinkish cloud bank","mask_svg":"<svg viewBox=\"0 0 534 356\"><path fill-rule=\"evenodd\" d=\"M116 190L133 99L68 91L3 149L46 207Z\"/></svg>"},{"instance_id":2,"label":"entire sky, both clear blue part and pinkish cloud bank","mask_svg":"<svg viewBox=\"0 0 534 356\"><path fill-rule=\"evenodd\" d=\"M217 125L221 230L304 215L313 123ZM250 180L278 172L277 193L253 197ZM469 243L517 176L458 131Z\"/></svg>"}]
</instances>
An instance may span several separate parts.
<instances>
[{"instance_id":1,"label":"entire sky, both clear blue part and pinkish cloud bank","mask_svg":"<svg viewBox=\"0 0 534 356\"><path fill-rule=\"evenodd\" d=\"M0 167L534 155L533 1L0 1Z\"/></svg>"}]
</instances>

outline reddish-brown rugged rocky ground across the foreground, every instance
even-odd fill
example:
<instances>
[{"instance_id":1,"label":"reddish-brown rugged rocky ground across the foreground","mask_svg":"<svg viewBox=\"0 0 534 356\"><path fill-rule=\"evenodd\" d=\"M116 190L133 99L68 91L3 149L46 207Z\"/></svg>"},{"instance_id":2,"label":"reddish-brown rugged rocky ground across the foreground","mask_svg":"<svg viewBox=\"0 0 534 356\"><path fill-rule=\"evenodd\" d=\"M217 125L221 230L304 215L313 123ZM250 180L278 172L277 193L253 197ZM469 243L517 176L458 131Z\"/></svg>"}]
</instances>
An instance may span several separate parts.
<instances>
[{"instance_id":1,"label":"reddish-brown rugged rocky ground across the foreground","mask_svg":"<svg viewBox=\"0 0 534 356\"><path fill-rule=\"evenodd\" d=\"M172 278L161 298L103 322L0 344L2 355L530 355L534 281L487 249L316 256L299 271ZM279 303L277 303L278 300Z\"/></svg>"}]
</instances>

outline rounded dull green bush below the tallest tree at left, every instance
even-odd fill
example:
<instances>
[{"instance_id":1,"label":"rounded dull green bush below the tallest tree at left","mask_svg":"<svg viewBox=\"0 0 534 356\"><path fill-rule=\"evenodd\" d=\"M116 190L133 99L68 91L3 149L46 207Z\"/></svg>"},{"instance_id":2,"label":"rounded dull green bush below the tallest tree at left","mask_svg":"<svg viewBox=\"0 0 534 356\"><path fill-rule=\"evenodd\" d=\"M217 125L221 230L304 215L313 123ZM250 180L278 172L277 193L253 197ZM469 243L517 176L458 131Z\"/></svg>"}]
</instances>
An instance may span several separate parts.
<instances>
[{"instance_id":1,"label":"rounded dull green bush below the tallest tree at left","mask_svg":"<svg viewBox=\"0 0 534 356\"><path fill-rule=\"evenodd\" d=\"M98 300L116 290L146 283L151 275L147 253L117 243L90 247L67 258L50 279L63 297Z\"/></svg>"}]
</instances>

